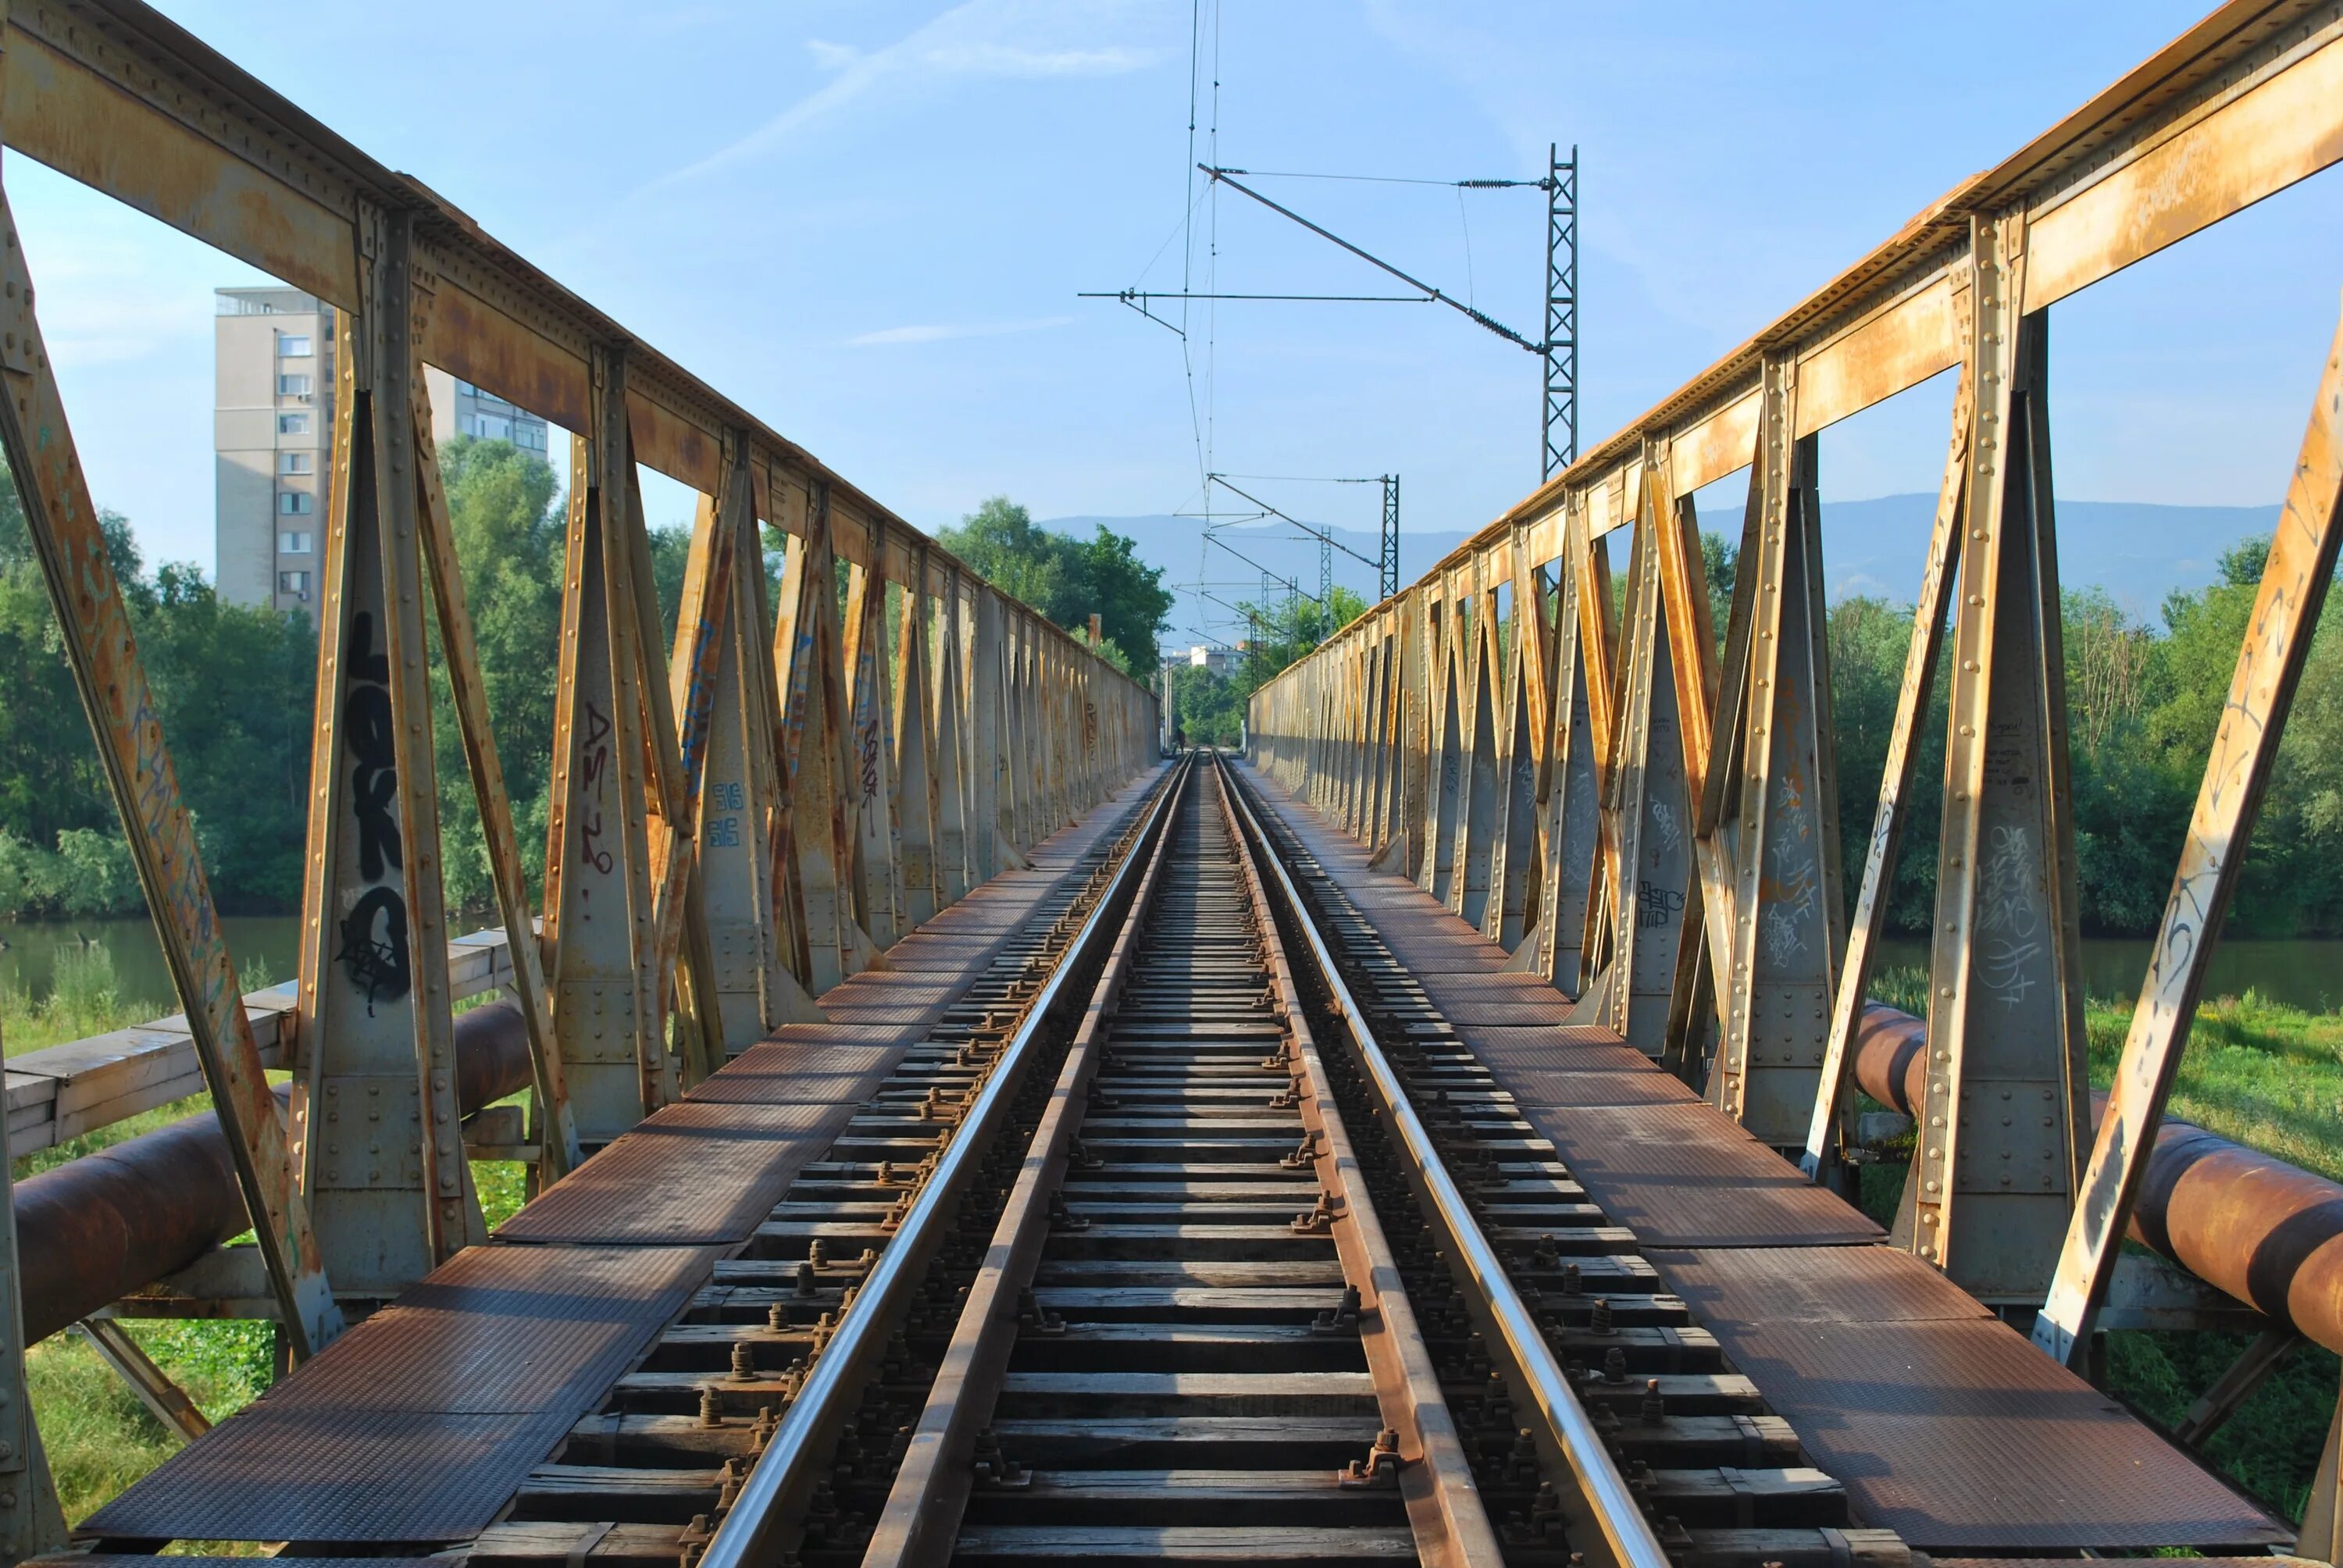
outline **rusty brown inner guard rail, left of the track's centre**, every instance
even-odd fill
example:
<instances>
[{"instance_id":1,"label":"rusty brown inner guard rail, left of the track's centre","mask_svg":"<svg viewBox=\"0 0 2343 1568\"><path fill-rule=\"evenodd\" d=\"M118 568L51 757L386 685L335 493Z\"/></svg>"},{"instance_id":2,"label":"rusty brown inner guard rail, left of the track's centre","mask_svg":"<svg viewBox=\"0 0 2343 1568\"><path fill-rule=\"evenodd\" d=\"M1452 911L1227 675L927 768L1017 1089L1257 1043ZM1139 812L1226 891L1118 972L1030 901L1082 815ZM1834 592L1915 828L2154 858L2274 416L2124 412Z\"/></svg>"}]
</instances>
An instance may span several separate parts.
<instances>
[{"instance_id":1,"label":"rusty brown inner guard rail, left of the track's centre","mask_svg":"<svg viewBox=\"0 0 2343 1568\"><path fill-rule=\"evenodd\" d=\"M1193 783L1195 769L1181 766L1167 785L1167 823L1176 820L1181 799ZM993 1409L1010 1352L1017 1348L1017 1291L1033 1284L1033 1266L1050 1240L1050 1198L1064 1181L1066 1151L1087 1111L1082 1095L1104 1055L1099 1043L1106 1038L1106 1017L1115 1010L1115 998L1132 970L1139 926L1148 916L1155 888L1162 886L1169 858L1172 832L1167 830L1155 834L1146 877L1122 916L1113 952L1106 954L1106 968L1089 989L1089 1005L1073 1031L1073 1045L1066 1048L1066 1064L1050 1090L1040 1125L1033 1127L1033 1141L1017 1170L1007 1207L993 1226L977 1280L968 1287L961 1320L954 1324L951 1343L911 1430L911 1446L895 1470L895 1484L888 1488L886 1507L862 1552L862 1568L925 1568L951 1561L961 1516L968 1512L975 1439Z\"/></svg>"}]
</instances>

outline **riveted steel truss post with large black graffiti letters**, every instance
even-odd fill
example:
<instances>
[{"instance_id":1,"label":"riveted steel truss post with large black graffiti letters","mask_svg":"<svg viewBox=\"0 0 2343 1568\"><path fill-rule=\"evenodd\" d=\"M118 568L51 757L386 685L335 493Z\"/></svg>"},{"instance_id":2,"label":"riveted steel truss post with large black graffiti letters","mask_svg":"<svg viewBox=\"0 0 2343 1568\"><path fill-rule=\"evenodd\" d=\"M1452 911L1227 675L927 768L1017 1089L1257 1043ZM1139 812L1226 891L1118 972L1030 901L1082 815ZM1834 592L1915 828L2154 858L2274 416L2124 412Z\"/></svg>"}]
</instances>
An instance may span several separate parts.
<instances>
[{"instance_id":1,"label":"riveted steel truss post with large black graffiti letters","mask_svg":"<svg viewBox=\"0 0 2343 1568\"><path fill-rule=\"evenodd\" d=\"M464 1158L424 659L412 216L363 209L340 314L293 1141L326 1268L396 1296L487 1240Z\"/></svg>"}]
</instances>

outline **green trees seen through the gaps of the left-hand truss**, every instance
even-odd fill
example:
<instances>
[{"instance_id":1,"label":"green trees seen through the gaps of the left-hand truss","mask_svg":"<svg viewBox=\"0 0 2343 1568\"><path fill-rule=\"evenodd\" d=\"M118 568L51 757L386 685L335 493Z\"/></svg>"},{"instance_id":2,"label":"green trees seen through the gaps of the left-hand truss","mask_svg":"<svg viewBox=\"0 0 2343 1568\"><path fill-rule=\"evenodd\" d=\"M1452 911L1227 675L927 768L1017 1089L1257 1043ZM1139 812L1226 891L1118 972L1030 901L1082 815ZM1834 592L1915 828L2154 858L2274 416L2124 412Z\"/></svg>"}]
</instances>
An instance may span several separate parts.
<instances>
[{"instance_id":1,"label":"green trees seen through the gaps of the left-hand truss","mask_svg":"<svg viewBox=\"0 0 2343 1568\"><path fill-rule=\"evenodd\" d=\"M448 511L480 642L480 680L532 888L544 874L553 691L560 670L562 511L553 469L506 441L440 448ZM300 907L302 795L314 731L316 626L307 614L220 600L192 567L155 570L129 523L101 513L138 659L155 691L197 851L227 914ZM682 598L686 527L651 530L665 628ZM0 916L143 909L89 720L16 490L0 476ZM448 902L487 909L494 888L431 628L433 748Z\"/></svg>"}]
</instances>

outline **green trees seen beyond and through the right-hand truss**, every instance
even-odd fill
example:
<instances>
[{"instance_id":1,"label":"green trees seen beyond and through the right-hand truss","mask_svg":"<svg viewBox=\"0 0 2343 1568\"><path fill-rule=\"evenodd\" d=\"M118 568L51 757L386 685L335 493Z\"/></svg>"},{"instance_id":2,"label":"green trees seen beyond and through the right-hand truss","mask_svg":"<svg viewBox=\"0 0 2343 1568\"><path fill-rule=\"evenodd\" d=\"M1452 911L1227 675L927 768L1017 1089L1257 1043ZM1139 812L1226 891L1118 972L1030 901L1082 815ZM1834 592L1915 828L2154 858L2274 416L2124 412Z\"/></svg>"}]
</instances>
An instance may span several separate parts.
<instances>
[{"instance_id":1,"label":"green trees seen beyond and through the right-hand truss","mask_svg":"<svg viewBox=\"0 0 2343 1568\"><path fill-rule=\"evenodd\" d=\"M1717 534L1701 544L1722 645L1736 551ZM2134 619L2102 588L2064 595L2069 809L2085 933L2149 935L2163 916L2268 548L2268 539L2249 539L2228 551L2219 581L2172 593L2153 621ZM1174 705L1188 741L1235 745L1254 689L1364 609L1354 595L1347 602L1343 591L1336 595L1333 614L1312 600L1249 605L1263 649L1237 654L1228 677L1176 668ZM1828 635L1839 865L1851 907L1879 804L1912 607L1844 598L1830 607ZM1926 935L1935 912L1949 659L1947 635L1888 895L1888 923L1898 935ZM2294 698L2228 930L2343 935L2343 609L2334 605L2320 621Z\"/></svg>"}]
</instances>

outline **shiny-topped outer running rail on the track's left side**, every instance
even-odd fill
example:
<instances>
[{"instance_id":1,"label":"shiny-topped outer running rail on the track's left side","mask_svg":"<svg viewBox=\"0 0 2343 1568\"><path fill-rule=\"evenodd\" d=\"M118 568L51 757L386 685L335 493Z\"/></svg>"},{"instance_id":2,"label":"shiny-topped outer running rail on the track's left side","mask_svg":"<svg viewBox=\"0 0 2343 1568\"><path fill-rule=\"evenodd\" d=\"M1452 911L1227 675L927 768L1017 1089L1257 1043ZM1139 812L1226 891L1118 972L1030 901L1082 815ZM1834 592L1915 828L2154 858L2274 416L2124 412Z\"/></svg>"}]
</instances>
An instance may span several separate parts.
<instances>
[{"instance_id":1,"label":"shiny-topped outer running rail on the track's left side","mask_svg":"<svg viewBox=\"0 0 2343 1568\"><path fill-rule=\"evenodd\" d=\"M827 1444L836 1432L836 1420L846 1413L846 1402L860 1397L865 1364L886 1348L890 1324L900 1317L909 1294L918 1289L933 1245L949 1228L954 1205L972 1167L1000 1130L1024 1076L1026 1055L1057 1013L1057 1001L1068 975L1080 968L1085 954L1089 954L1092 945L1108 928L1108 912L1115 909L1125 886L1129 886L1132 877L1146 863L1148 844L1169 825L1169 806L1179 795L1186 769L1188 764L1181 764L1157 788L1148 818L1139 827L1132 848L1122 855L1122 865L1115 867L1113 881L1089 907L1082 928L1066 945L1064 959L1059 959L1057 968L1050 970L1050 980L1033 996L1033 1005L1017 1024L1017 1034L1000 1050L993 1071L984 1078L984 1088L977 1090L975 1102L951 1134L949 1146L935 1165L935 1174L918 1191L918 1198L911 1200L911 1212L904 1214L895 1240L879 1254L829 1345L806 1371L799 1395L790 1399L787 1411L780 1416L773 1441L757 1455L757 1465L740 1484L738 1500L710 1538L708 1552L701 1556L701 1568L764 1568L780 1554L783 1545L773 1540L773 1533L785 1523L790 1505L815 1481L815 1467L829 1463ZM1115 921L1115 928L1120 928L1120 921Z\"/></svg>"}]
</instances>

